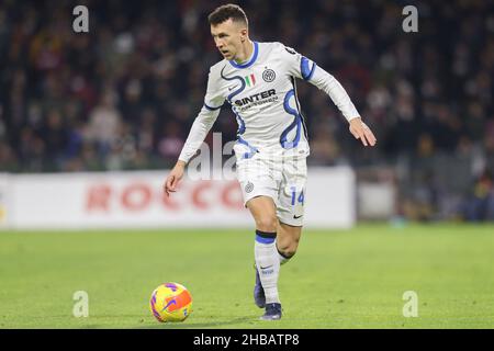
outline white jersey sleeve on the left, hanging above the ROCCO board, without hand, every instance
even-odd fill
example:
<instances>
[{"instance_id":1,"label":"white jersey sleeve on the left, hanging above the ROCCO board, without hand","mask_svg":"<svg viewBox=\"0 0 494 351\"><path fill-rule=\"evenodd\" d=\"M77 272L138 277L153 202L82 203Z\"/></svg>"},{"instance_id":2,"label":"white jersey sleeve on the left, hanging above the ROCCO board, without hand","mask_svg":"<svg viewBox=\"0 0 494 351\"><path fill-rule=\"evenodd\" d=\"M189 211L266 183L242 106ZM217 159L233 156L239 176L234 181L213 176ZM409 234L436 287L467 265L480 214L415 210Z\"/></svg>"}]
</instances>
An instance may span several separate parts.
<instances>
[{"instance_id":1,"label":"white jersey sleeve on the left, hanging above the ROCCO board, without hand","mask_svg":"<svg viewBox=\"0 0 494 351\"><path fill-rule=\"evenodd\" d=\"M195 117L179 156L179 160L184 161L186 163L189 162L189 160L201 147L201 144L204 141L207 133L220 114L223 103L225 102L225 98L222 97L220 92L217 81L218 79L215 75L210 71L204 105Z\"/></svg>"}]
</instances>

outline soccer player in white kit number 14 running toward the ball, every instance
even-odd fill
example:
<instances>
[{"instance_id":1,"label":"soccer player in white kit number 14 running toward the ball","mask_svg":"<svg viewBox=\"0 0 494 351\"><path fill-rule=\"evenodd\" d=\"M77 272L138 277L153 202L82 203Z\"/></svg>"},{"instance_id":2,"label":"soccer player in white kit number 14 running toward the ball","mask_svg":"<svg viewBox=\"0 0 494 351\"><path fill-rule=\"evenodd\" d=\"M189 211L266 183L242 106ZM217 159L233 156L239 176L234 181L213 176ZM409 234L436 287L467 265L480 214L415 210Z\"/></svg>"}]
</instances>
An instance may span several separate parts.
<instances>
[{"instance_id":1,"label":"soccer player in white kit number 14 running toward the ball","mask_svg":"<svg viewBox=\"0 0 494 351\"><path fill-rule=\"evenodd\" d=\"M281 318L280 264L295 254L302 233L308 143L296 97L295 78L330 97L364 146L375 137L362 122L341 84L311 59L281 43L249 38L242 8L225 4L209 15L211 34L224 59L209 73L204 105L197 116L164 190L177 190L186 165L195 155L224 102L238 123L234 146L245 206L256 223L255 303L261 319Z\"/></svg>"}]
</instances>

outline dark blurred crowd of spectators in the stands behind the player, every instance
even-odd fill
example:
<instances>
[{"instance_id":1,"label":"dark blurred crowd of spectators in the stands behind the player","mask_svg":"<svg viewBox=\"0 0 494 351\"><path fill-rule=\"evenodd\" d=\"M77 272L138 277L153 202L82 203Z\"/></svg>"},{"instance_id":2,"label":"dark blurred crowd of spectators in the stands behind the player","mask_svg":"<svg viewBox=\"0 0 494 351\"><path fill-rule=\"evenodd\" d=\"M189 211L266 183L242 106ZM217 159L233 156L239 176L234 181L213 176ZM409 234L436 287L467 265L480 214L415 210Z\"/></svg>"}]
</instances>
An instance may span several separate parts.
<instances>
[{"instance_id":1,"label":"dark blurred crowd of spectators in the stands behind the player","mask_svg":"<svg viewBox=\"0 0 494 351\"><path fill-rule=\"evenodd\" d=\"M0 172L173 165L221 59L206 16L222 3L1 1ZM492 1L238 3L254 39L334 75L377 134L362 152L329 98L300 82L311 165L394 169L412 218L494 219ZM89 33L72 31L77 4ZM417 33L402 30L407 4ZM223 109L214 131L225 143L236 128Z\"/></svg>"}]
</instances>

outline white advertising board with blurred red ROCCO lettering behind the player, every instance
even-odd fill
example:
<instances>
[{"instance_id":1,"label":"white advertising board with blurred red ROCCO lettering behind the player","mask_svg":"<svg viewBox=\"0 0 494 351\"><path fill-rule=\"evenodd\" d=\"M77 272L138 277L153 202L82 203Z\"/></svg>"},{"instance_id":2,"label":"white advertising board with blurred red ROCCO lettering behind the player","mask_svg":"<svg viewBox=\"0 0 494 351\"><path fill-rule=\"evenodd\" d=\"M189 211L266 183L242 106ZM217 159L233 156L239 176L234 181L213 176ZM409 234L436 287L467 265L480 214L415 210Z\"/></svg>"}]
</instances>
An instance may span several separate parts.
<instances>
[{"instance_id":1,"label":"white advertising board with blurred red ROCCO lettering behind the player","mask_svg":"<svg viewBox=\"0 0 494 351\"><path fill-rule=\"evenodd\" d=\"M4 176L0 223L10 228L75 229L252 225L237 181L184 179L167 197L165 176L162 171ZM355 197L351 169L311 169L306 226L351 227Z\"/></svg>"}]
</instances>

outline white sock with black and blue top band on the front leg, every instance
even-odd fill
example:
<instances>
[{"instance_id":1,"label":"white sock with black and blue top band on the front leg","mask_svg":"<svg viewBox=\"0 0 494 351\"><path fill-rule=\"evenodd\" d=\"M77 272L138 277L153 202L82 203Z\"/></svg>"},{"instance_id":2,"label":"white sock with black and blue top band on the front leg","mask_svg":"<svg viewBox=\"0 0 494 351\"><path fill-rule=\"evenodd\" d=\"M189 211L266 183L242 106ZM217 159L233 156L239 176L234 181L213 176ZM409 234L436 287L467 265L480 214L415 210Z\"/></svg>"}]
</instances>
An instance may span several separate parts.
<instances>
[{"instance_id":1,"label":"white sock with black and blue top band on the front leg","mask_svg":"<svg viewBox=\"0 0 494 351\"><path fill-rule=\"evenodd\" d=\"M259 278L265 290L266 303L280 303L278 296L278 276L280 259L276 244L277 234L256 230L254 256Z\"/></svg>"}]
</instances>

